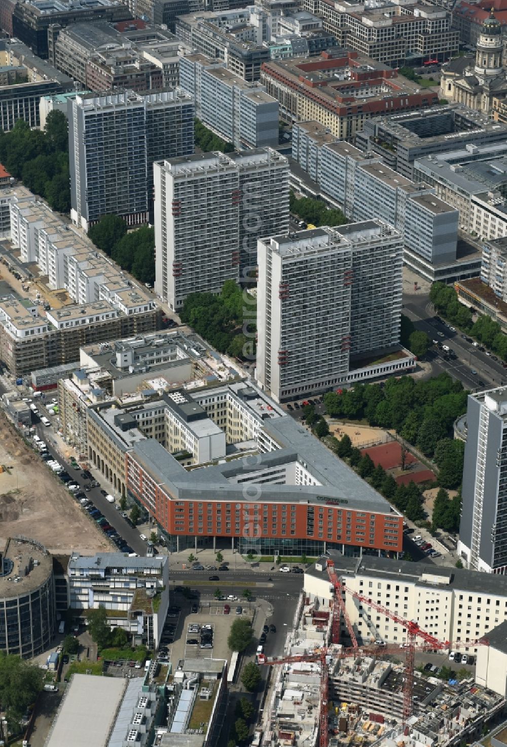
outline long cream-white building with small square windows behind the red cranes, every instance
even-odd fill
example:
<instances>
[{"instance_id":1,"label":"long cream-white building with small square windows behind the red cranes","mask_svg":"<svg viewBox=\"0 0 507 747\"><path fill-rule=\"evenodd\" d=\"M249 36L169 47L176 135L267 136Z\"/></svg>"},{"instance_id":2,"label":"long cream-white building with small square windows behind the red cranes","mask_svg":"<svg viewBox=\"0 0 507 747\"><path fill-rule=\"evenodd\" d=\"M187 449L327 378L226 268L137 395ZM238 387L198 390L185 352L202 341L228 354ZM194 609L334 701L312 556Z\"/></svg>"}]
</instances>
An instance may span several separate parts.
<instances>
[{"instance_id":1,"label":"long cream-white building with small square windows behind the red cranes","mask_svg":"<svg viewBox=\"0 0 507 747\"><path fill-rule=\"evenodd\" d=\"M489 636L507 619L507 580L488 580L486 574L433 563L411 563L382 557L362 557L359 562L330 551L336 574L350 591L371 598L407 620L417 622L441 641L461 642L460 650L476 654L480 648L467 641ZM305 572L304 590L310 600L333 599L334 589L322 557ZM354 632L362 642L374 640L403 645L406 629L366 604L344 594L344 602ZM341 636L348 637L341 618ZM505 686L505 682L504 682Z\"/></svg>"}]
</instances>

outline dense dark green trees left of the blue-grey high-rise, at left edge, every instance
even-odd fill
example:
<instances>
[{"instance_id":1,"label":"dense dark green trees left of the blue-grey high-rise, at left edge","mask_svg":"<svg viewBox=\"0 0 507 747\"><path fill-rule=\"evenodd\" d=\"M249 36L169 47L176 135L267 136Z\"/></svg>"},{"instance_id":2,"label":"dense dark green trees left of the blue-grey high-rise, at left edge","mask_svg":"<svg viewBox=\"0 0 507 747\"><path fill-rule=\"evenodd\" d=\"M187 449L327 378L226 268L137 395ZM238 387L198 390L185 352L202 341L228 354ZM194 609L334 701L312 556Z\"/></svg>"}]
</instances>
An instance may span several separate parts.
<instances>
[{"instance_id":1,"label":"dense dark green trees left of the blue-grey high-rise, at left edge","mask_svg":"<svg viewBox=\"0 0 507 747\"><path fill-rule=\"evenodd\" d=\"M44 130L18 120L0 130L0 163L53 210L70 212L69 125L65 114L51 111Z\"/></svg>"}]
</instances>

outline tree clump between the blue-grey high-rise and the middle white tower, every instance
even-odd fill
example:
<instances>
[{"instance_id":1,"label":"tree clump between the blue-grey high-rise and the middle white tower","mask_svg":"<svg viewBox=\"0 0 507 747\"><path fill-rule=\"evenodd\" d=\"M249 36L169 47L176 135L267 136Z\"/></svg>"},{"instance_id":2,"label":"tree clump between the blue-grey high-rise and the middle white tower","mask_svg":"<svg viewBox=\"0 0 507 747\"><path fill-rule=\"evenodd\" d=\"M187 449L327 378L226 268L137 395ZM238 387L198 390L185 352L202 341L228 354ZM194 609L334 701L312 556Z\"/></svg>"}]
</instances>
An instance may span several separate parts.
<instances>
[{"instance_id":1,"label":"tree clump between the blue-grey high-rise and the middle white tower","mask_svg":"<svg viewBox=\"0 0 507 747\"><path fill-rule=\"evenodd\" d=\"M155 282L155 230L142 226L127 233L127 223L118 215L104 215L88 231L95 247L110 256L139 282Z\"/></svg>"}]
</instances>

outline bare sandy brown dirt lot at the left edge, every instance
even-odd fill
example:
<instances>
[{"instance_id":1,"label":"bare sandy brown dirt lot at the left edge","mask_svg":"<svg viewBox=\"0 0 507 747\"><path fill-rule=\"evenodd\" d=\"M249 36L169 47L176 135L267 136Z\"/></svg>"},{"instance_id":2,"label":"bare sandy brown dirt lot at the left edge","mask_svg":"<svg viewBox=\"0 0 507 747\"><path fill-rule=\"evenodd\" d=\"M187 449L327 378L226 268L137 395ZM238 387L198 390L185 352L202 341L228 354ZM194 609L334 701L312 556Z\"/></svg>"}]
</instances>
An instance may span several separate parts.
<instances>
[{"instance_id":1,"label":"bare sandy brown dirt lot at the left edge","mask_svg":"<svg viewBox=\"0 0 507 747\"><path fill-rule=\"evenodd\" d=\"M22 534L56 554L112 550L51 470L0 418L0 546Z\"/></svg>"}]
</instances>

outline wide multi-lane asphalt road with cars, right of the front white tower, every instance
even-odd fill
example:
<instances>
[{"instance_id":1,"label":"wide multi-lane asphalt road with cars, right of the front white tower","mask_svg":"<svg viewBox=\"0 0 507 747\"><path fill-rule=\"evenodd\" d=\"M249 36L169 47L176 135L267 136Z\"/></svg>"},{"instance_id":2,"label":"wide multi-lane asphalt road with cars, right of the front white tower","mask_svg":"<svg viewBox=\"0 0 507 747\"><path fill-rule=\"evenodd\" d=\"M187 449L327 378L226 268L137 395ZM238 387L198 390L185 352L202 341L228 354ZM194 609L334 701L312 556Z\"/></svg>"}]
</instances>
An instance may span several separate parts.
<instances>
[{"instance_id":1,"label":"wide multi-lane asphalt road with cars, right of the front white tower","mask_svg":"<svg viewBox=\"0 0 507 747\"><path fill-rule=\"evenodd\" d=\"M435 350L428 353L427 357L437 373L448 371L468 389L485 388L479 384L479 380L485 382L486 387L507 381L507 370L500 362L473 347L471 342L462 338L461 332L451 332L447 326L435 320L435 313L427 296L411 296L410 302L403 307L403 314L415 323L417 329L427 332L432 340L441 341L456 353L457 359L453 361L444 361ZM442 332L444 337L438 335L438 332ZM472 373L472 370L477 373Z\"/></svg>"}]
</instances>

